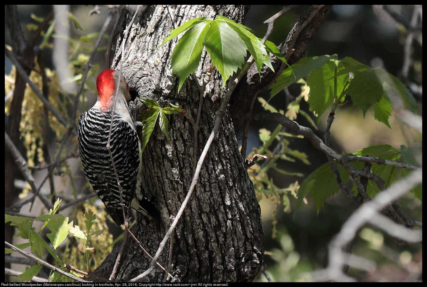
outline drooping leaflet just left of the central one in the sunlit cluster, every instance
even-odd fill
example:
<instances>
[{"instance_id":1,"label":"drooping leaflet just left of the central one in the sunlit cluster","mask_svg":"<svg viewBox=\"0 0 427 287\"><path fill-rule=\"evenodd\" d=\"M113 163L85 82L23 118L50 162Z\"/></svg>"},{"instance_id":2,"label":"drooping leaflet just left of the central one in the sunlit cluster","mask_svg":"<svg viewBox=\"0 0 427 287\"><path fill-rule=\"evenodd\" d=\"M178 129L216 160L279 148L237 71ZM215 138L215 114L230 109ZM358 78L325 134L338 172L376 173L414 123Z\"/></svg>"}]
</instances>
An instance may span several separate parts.
<instances>
[{"instance_id":1,"label":"drooping leaflet just left of the central one in the sunlit cluster","mask_svg":"<svg viewBox=\"0 0 427 287\"><path fill-rule=\"evenodd\" d=\"M171 67L179 77L178 92L187 77L196 71L202 56L203 40L209 30L209 22L194 25L178 40L173 49Z\"/></svg>"}]
</instances>

